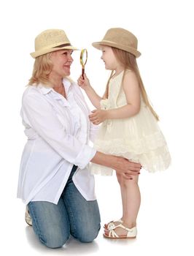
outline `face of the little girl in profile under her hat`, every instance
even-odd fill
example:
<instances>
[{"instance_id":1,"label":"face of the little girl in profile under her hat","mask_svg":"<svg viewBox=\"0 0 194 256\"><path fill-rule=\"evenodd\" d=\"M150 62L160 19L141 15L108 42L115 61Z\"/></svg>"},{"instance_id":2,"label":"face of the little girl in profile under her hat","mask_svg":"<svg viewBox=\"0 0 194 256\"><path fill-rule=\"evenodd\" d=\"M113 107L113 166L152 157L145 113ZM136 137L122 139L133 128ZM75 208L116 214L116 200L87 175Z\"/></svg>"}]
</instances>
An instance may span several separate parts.
<instances>
[{"instance_id":1,"label":"face of the little girl in profile under her hat","mask_svg":"<svg viewBox=\"0 0 194 256\"><path fill-rule=\"evenodd\" d=\"M118 61L115 58L115 54L112 48L106 45L101 46L102 56L101 59L104 61L105 69L115 70L118 66Z\"/></svg>"}]
</instances>

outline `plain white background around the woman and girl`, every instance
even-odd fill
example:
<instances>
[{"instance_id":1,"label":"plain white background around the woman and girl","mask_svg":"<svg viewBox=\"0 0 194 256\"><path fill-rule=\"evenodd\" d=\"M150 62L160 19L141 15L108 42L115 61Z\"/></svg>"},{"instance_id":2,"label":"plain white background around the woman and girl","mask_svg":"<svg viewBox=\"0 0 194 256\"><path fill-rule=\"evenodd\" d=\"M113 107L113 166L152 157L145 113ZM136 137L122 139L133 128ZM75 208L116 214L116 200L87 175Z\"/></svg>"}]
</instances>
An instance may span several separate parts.
<instances>
[{"instance_id":1,"label":"plain white background around the woman and girl","mask_svg":"<svg viewBox=\"0 0 194 256\"><path fill-rule=\"evenodd\" d=\"M1 1L1 255L193 255L193 23L192 1L187 0ZM172 165L162 173L141 171L136 240L110 241L101 230L92 244L71 238L63 249L47 249L26 226L25 206L16 199L26 142L20 102L34 63L29 53L41 31L64 29L72 45L88 49L85 69L103 94L109 72L91 42L102 39L111 27L128 29L139 39L139 69L160 116ZM73 57L71 78L77 80L79 52ZM115 176L96 177L96 195L102 225L121 217Z\"/></svg>"}]
</instances>

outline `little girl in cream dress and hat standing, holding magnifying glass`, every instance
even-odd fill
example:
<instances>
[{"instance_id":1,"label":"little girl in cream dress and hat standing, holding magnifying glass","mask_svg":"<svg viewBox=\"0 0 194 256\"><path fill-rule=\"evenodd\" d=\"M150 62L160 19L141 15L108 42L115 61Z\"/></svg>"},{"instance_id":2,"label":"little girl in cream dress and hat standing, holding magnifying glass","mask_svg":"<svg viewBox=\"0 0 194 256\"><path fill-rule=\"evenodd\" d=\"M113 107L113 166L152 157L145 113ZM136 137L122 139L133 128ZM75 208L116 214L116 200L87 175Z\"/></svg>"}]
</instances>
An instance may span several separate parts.
<instances>
[{"instance_id":1,"label":"little girl in cream dress and hat standing, holding magnifying glass","mask_svg":"<svg viewBox=\"0 0 194 256\"><path fill-rule=\"evenodd\" d=\"M140 162L150 171L166 170L171 162L166 140L158 127L158 115L147 98L136 63L141 53L137 39L129 31L109 29L101 42L93 47L102 50L105 68L112 70L101 98L90 86L85 75L78 80L93 106L89 116L93 124L101 124L94 146L98 151ZM112 175L108 167L92 164L92 173ZM104 225L106 238L135 238L136 218L140 206L138 176L117 173L123 203L123 217Z\"/></svg>"}]
</instances>

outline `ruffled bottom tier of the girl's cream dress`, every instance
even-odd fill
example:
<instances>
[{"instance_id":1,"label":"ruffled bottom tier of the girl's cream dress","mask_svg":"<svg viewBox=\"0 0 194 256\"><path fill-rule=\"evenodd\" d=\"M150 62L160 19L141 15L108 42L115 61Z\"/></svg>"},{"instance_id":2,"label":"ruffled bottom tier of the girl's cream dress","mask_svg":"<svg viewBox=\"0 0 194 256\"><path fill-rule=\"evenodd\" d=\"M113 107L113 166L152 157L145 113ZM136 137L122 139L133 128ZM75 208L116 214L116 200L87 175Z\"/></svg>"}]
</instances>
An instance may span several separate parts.
<instances>
[{"instance_id":1,"label":"ruffled bottom tier of the girl's cream dress","mask_svg":"<svg viewBox=\"0 0 194 256\"><path fill-rule=\"evenodd\" d=\"M149 172L166 170L171 162L166 141L160 134L133 141L120 139L111 141L96 140L95 148L105 154L140 162L142 167ZM101 165L93 166L93 173L103 174L103 168Z\"/></svg>"}]
</instances>

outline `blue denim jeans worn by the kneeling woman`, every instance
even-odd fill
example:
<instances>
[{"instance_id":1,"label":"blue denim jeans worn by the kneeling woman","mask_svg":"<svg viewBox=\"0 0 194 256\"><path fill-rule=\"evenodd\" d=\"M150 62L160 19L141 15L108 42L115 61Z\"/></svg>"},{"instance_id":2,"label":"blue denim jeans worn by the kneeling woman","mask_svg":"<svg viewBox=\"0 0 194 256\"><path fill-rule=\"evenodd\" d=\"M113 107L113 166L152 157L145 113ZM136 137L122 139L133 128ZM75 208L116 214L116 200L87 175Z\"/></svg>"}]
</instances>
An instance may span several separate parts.
<instances>
[{"instance_id":1,"label":"blue denim jeans worn by the kneeling woman","mask_svg":"<svg viewBox=\"0 0 194 256\"><path fill-rule=\"evenodd\" d=\"M75 187L72 176L76 169L77 166L72 168L57 205L46 201L28 203L34 232L47 247L63 246L70 235L86 243L98 236L101 227L98 203L85 200Z\"/></svg>"}]
</instances>

